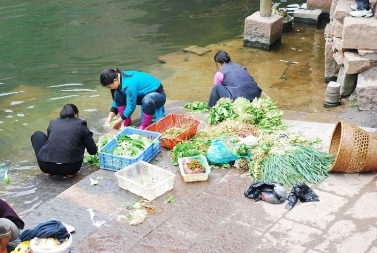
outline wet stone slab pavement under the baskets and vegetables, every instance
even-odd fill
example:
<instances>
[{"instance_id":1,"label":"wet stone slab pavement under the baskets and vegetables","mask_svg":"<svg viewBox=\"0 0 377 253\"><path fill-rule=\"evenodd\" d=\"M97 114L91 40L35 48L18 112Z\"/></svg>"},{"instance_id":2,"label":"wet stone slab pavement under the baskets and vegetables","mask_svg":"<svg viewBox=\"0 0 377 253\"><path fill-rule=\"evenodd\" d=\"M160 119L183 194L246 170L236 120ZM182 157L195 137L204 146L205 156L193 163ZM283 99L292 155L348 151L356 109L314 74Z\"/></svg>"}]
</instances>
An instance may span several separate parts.
<instances>
[{"instance_id":1,"label":"wet stone slab pavement under the baskets and vegetables","mask_svg":"<svg viewBox=\"0 0 377 253\"><path fill-rule=\"evenodd\" d=\"M167 111L186 113L178 108L182 106L172 104ZM205 122L206 114L187 114ZM335 124L285 122L287 133L318 136L322 149L328 150ZM298 201L288 211L287 202L272 205L245 197L250 179L234 167L211 169L207 181L185 183L169 153L163 148L151 163L175 173L174 187L149 203L163 211L143 223L132 226L119 219L141 197L120 188L114 171L100 169L70 187L64 180L61 185L43 181L46 194L59 187L61 192L23 217L25 229L51 218L74 226L72 253L377 252L375 172L332 173L321 189L311 186L320 201ZM91 185L90 178L99 184ZM164 203L169 194L175 203Z\"/></svg>"}]
</instances>

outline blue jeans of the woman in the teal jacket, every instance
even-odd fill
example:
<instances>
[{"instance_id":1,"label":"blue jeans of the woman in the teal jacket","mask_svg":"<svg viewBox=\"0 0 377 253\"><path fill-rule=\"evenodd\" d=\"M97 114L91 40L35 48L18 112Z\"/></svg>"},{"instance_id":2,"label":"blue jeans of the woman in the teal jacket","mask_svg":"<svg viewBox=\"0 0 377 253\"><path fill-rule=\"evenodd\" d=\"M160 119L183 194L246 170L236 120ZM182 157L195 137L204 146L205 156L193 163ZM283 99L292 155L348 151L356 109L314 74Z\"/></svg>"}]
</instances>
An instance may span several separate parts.
<instances>
[{"instance_id":1,"label":"blue jeans of the woman in the teal jacket","mask_svg":"<svg viewBox=\"0 0 377 253\"><path fill-rule=\"evenodd\" d=\"M114 91L114 102L117 106L127 105L126 95L124 95L120 90ZM165 91L152 92L143 96L138 96L136 100L137 106L143 107L143 112L147 115L153 115L156 108L160 108L165 105L166 94Z\"/></svg>"}]
</instances>

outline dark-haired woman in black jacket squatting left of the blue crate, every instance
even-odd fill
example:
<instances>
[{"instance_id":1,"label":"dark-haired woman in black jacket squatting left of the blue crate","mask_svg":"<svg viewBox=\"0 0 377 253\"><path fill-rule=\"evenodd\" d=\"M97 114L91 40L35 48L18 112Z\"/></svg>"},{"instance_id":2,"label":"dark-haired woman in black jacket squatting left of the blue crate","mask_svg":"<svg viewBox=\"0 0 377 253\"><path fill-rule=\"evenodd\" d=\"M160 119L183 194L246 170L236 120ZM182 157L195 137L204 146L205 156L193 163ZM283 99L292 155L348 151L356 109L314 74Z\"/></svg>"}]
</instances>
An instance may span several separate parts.
<instances>
[{"instance_id":1,"label":"dark-haired woman in black jacket squatting left of the blue crate","mask_svg":"<svg viewBox=\"0 0 377 253\"><path fill-rule=\"evenodd\" d=\"M78 118L78 109L67 104L60 117L50 121L47 135L37 131L32 145L39 168L47 175L73 176L82 166L85 148L97 154L97 145L87 122Z\"/></svg>"}]
</instances>

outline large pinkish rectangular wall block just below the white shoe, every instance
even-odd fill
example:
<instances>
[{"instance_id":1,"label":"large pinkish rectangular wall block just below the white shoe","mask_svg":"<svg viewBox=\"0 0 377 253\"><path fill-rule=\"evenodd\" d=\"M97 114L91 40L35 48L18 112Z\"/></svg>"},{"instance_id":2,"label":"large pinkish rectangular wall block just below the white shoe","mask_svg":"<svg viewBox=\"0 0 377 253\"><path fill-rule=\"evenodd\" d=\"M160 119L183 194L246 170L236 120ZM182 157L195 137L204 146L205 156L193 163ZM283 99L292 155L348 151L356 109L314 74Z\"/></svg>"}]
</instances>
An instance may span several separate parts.
<instances>
[{"instance_id":1,"label":"large pinkish rectangular wall block just below the white shoe","mask_svg":"<svg viewBox=\"0 0 377 253\"><path fill-rule=\"evenodd\" d=\"M344 48L377 50L377 19L344 18L342 39Z\"/></svg>"}]
</instances>

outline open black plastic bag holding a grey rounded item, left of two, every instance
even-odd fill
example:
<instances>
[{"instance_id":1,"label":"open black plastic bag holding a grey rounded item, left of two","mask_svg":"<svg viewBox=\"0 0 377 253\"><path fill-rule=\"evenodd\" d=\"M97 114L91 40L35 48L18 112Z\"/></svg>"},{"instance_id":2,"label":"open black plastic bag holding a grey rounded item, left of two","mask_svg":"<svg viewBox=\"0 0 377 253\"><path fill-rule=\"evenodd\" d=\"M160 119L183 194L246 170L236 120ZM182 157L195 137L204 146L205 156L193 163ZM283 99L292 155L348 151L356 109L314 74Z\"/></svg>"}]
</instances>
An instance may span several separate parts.
<instances>
[{"instance_id":1,"label":"open black plastic bag holding a grey rounded item, left of two","mask_svg":"<svg viewBox=\"0 0 377 253\"><path fill-rule=\"evenodd\" d=\"M262 199L270 204L281 204L287 199L287 189L283 184L271 181L256 181L244 192L245 196L256 201Z\"/></svg>"}]
</instances>

